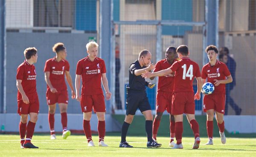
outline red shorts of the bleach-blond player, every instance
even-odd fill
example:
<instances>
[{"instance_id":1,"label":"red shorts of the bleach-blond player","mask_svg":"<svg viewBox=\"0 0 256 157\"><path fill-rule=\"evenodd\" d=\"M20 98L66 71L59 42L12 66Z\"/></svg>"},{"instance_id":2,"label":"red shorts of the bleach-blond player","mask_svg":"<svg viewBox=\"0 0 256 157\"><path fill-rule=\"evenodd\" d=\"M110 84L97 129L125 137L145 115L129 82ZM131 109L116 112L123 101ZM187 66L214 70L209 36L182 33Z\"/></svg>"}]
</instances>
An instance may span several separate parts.
<instances>
[{"instance_id":1,"label":"red shorts of the bleach-blond player","mask_svg":"<svg viewBox=\"0 0 256 157\"><path fill-rule=\"evenodd\" d=\"M106 112L103 94L81 95L80 105L82 112Z\"/></svg>"}]
</instances>

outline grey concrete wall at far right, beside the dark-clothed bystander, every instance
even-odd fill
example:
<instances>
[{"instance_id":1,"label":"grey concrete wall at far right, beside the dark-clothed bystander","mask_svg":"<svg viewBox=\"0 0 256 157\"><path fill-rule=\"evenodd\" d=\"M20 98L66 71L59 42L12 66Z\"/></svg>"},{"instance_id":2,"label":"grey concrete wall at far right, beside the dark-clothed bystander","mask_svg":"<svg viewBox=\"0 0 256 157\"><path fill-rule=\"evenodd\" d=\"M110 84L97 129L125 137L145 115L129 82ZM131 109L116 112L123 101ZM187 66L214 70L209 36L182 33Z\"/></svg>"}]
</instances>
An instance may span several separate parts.
<instances>
[{"instance_id":1,"label":"grey concrete wall at far right, beside the dark-clothed bystander","mask_svg":"<svg viewBox=\"0 0 256 157\"><path fill-rule=\"evenodd\" d=\"M226 32L222 38L220 47L229 48L236 61L236 86L230 95L241 107L241 115L256 115L256 31ZM228 108L228 115L235 114Z\"/></svg>"}]
</instances>

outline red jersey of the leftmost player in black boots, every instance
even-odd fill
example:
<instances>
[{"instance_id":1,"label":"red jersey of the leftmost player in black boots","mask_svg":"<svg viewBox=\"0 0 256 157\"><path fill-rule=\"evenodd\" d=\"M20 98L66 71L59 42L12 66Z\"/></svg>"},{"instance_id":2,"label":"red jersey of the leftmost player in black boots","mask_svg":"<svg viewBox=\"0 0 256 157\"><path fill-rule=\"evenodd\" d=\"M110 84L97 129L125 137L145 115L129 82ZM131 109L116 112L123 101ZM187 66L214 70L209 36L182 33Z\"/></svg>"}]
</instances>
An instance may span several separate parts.
<instances>
[{"instance_id":1,"label":"red jersey of the leftmost player in black boots","mask_svg":"<svg viewBox=\"0 0 256 157\"><path fill-rule=\"evenodd\" d=\"M36 72L35 66L30 65L28 62L21 63L17 68L17 80L22 80L21 85L29 100L34 100L38 97L36 92ZM21 100L22 95L18 90L17 100Z\"/></svg>"}]
</instances>

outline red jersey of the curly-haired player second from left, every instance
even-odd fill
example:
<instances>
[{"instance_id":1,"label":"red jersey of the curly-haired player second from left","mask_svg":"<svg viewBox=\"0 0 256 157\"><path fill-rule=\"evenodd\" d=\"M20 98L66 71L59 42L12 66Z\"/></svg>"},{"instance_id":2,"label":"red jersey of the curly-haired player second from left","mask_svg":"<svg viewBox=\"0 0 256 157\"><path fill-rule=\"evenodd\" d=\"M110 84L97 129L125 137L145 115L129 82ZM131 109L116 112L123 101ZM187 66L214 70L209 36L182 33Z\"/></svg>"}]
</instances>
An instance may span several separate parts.
<instances>
[{"instance_id":1,"label":"red jersey of the curly-haired player second from left","mask_svg":"<svg viewBox=\"0 0 256 157\"><path fill-rule=\"evenodd\" d=\"M54 88L56 88L57 91L61 90L67 90L67 85L65 82L65 71L70 70L70 65L67 62L67 60L62 59L60 62L57 62L55 57L52 59L48 59L45 62L44 66L44 72L49 71L50 72L50 81ZM49 87L47 85L47 90L49 90Z\"/></svg>"}]
</instances>

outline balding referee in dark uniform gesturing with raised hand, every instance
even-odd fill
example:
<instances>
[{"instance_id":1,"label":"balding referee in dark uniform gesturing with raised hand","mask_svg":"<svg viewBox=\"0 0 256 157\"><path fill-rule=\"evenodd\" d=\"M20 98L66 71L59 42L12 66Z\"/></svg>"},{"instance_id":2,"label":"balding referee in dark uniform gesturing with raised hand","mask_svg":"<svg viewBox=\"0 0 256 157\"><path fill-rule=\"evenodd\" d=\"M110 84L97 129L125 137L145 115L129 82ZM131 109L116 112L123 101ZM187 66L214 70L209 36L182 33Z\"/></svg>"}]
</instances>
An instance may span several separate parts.
<instances>
[{"instance_id":1,"label":"balding referee in dark uniform gesturing with raised hand","mask_svg":"<svg viewBox=\"0 0 256 157\"><path fill-rule=\"evenodd\" d=\"M126 142L126 134L138 108L146 119L145 129L148 137L147 147L150 148L162 146L152 139L153 115L148 102L146 87L153 88L154 86L153 84L145 81L145 78L141 77L141 74L144 73L145 70L151 71L155 67L154 64L151 64L150 59L151 53L148 50L142 50L140 51L139 58L130 65L129 87L126 87L126 115L125 121L122 125L122 137L119 147L133 147Z\"/></svg>"}]
</instances>

